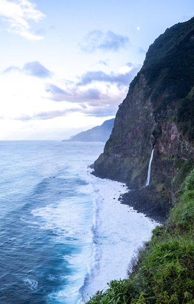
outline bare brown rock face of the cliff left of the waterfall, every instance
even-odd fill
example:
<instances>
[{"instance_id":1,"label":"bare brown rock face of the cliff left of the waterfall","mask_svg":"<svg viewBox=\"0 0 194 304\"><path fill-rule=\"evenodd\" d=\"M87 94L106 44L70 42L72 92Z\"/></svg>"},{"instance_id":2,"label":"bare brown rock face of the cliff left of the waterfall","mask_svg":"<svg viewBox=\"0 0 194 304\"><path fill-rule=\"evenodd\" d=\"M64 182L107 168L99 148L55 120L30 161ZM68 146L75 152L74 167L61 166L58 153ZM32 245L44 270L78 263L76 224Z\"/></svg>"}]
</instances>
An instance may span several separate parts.
<instances>
[{"instance_id":1,"label":"bare brown rock face of the cliff left of the waterfall","mask_svg":"<svg viewBox=\"0 0 194 304\"><path fill-rule=\"evenodd\" d=\"M130 90L120 106L104 153L95 162L95 172L129 185L143 186L152 150L150 132L155 125L152 105L145 99L145 79ZM144 104L142 106L142 103ZM138 167L138 168L137 168ZM142 174L139 174L139 168Z\"/></svg>"}]
</instances>

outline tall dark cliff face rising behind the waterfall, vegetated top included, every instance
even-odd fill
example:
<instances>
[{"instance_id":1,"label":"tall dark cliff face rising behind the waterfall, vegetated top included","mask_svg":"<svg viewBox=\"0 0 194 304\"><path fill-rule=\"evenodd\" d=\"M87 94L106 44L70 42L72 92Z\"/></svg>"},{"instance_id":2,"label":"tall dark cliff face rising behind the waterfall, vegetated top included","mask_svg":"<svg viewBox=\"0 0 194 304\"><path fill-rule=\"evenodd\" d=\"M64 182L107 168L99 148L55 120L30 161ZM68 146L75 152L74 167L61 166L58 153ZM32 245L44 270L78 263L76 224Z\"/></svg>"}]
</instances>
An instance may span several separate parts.
<instances>
[{"instance_id":1,"label":"tall dark cliff face rising behind the waterfall, vegetated top included","mask_svg":"<svg viewBox=\"0 0 194 304\"><path fill-rule=\"evenodd\" d=\"M178 23L149 47L144 65L120 105L94 174L146 185L172 199L194 167L194 18Z\"/></svg>"}]
</instances>

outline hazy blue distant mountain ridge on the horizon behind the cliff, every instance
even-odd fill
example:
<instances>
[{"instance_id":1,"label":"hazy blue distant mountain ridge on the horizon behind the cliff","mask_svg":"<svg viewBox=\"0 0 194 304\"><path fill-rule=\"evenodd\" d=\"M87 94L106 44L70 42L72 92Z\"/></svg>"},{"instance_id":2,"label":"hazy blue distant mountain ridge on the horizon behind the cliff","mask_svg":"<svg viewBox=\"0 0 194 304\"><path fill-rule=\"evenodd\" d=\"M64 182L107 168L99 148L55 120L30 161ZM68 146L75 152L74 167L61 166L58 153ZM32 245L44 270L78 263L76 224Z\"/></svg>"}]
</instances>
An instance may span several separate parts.
<instances>
[{"instance_id":1,"label":"hazy blue distant mountain ridge on the horizon behind the cliff","mask_svg":"<svg viewBox=\"0 0 194 304\"><path fill-rule=\"evenodd\" d=\"M100 126L94 127L87 131L78 133L69 139L62 141L92 141L92 142L106 142L112 132L114 125L114 118L105 120Z\"/></svg>"}]
</instances>

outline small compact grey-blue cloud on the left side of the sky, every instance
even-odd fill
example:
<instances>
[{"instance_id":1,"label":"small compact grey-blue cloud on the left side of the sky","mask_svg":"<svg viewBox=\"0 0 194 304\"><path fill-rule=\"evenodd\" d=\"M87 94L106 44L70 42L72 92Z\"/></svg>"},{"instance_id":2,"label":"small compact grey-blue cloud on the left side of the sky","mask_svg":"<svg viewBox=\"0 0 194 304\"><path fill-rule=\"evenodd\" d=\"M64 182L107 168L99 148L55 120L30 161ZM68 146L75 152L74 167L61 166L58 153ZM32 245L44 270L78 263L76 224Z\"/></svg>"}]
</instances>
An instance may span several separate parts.
<instances>
[{"instance_id":1,"label":"small compact grey-blue cloud on the left side of the sky","mask_svg":"<svg viewBox=\"0 0 194 304\"><path fill-rule=\"evenodd\" d=\"M23 71L27 75L35 76L38 78L51 77L52 73L42 66L38 61L28 62L24 65Z\"/></svg>"}]
</instances>

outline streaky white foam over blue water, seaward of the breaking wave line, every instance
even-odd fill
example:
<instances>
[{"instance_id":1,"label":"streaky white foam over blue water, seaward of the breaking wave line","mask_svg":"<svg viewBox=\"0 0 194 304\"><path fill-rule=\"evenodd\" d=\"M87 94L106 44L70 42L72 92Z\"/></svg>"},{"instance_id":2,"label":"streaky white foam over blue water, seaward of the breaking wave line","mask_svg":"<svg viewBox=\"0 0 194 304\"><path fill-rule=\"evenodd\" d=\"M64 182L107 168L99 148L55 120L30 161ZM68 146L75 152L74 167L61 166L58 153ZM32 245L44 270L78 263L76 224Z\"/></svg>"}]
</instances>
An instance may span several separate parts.
<instances>
[{"instance_id":1,"label":"streaky white foam over blue water, seaward of the breaking wave line","mask_svg":"<svg viewBox=\"0 0 194 304\"><path fill-rule=\"evenodd\" d=\"M93 269L96 263L93 243L94 188L88 183L76 187L74 194L75 196L61 200L57 204L33 209L31 213L36 220L29 220L31 227L33 223L37 227L38 222L39 229L53 231L56 243L78 248L75 253L70 251L64 256L65 267L71 273L65 277L68 283L64 290L49 295L50 299L57 299L58 303L77 303L80 298L79 289L84 285L90 268Z\"/></svg>"}]
</instances>

